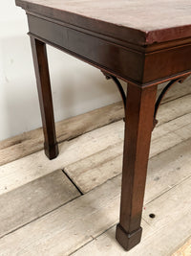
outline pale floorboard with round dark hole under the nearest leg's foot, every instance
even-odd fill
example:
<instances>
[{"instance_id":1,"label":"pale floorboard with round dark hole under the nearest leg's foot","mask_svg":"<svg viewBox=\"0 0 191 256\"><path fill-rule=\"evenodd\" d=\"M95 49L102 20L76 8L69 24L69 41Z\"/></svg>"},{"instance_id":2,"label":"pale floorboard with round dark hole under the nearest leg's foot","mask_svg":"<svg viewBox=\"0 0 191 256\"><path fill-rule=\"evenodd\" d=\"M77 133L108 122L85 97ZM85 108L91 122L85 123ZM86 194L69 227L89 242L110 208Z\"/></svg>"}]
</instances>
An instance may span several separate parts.
<instances>
[{"instance_id":1,"label":"pale floorboard with round dark hole under the nearest leg's foot","mask_svg":"<svg viewBox=\"0 0 191 256\"><path fill-rule=\"evenodd\" d=\"M191 176L147 203L143 220L150 226L143 231L142 241L128 253L115 241L115 228L78 249L73 255L170 256L191 234ZM149 215L156 215L151 219ZM186 255L186 256L189 256Z\"/></svg>"}]
</instances>

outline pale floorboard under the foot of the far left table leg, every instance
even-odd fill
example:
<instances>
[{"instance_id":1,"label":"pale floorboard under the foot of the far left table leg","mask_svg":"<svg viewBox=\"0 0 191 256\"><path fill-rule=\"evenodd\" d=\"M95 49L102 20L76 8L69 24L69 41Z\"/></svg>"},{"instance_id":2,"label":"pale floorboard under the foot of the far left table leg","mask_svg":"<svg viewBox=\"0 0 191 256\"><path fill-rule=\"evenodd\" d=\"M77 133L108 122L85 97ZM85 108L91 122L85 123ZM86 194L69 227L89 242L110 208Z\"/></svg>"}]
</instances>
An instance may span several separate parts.
<instances>
[{"instance_id":1,"label":"pale floorboard under the foot of the far left table leg","mask_svg":"<svg viewBox=\"0 0 191 256\"><path fill-rule=\"evenodd\" d=\"M97 128L61 143L60 154L52 161L45 156L44 151L39 151L0 166L0 195L116 144L122 133L123 129L120 129L118 122L113 123L109 128Z\"/></svg>"}]
</instances>

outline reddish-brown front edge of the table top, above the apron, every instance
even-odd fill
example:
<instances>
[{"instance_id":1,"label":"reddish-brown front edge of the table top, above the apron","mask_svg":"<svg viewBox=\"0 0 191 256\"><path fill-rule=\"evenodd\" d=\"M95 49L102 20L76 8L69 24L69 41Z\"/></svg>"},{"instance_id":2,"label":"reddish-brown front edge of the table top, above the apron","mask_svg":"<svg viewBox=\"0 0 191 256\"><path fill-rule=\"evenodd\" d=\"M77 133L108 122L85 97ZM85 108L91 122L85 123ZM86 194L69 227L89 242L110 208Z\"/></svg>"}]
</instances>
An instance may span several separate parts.
<instances>
[{"instance_id":1,"label":"reddish-brown front edge of the table top, above the apron","mask_svg":"<svg viewBox=\"0 0 191 256\"><path fill-rule=\"evenodd\" d=\"M191 37L191 24L159 30L144 31L127 26L119 26L115 23L108 23L103 20L96 20L94 18L83 16L74 12L59 12L59 10L57 10L57 16L55 17L55 15L51 13L51 8L43 6L43 12L41 12L40 9L38 11L38 8L42 6L27 3L23 0L15 0L15 4L16 6L24 9L26 12L33 12L34 14L36 13L42 17L52 18L83 29L91 29L96 33L117 37L117 39L121 39L133 44L135 43L140 46L149 46L156 43L169 42L181 38L184 39ZM89 22L85 22L87 20ZM100 30L100 27L102 30Z\"/></svg>"}]
</instances>

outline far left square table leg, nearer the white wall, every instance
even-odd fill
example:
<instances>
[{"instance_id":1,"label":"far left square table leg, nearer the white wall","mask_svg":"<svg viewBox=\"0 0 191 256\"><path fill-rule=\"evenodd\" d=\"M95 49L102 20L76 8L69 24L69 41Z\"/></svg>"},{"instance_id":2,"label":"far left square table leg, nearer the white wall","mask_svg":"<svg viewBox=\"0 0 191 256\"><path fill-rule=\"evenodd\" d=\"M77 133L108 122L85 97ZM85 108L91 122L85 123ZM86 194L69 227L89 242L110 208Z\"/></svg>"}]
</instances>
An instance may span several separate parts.
<instances>
[{"instance_id":1,"label":"far left square table leg, nearer the white wall","mask_svg":"<svg viewBox=\"0 0 191 256\"><path fill-rule=\"evenodd\" d=\"M46 44L34 38L32 35L31 43L33 64L38 89L38 98L45 137L44 148L45 153L49 159L53 159L58 155L58 145L56 142L54 126L53 99Z\"/></svg>"}]
</instances>

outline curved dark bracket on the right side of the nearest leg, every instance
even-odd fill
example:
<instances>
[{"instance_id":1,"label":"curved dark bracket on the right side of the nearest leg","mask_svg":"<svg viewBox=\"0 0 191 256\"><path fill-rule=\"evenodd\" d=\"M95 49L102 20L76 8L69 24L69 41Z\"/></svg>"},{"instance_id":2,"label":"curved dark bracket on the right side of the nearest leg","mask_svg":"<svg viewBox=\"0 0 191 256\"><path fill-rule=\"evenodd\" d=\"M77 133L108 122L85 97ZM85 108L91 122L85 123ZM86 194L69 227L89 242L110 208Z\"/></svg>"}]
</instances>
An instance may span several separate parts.
<instances>
[{"instance_id":1,"label":"curved dark bracket on the right side of the nearest leg","mask_svg":"<svg viewBox=\"0 0 191 256\"><path fill-rule=\"evenodd\" d=\"M169 81L168 84L163 88L163 90L161 91L161 93L159 94L159 98L156 102L155 105L155 112L154 112L154 120L153 120L153 128L156 127L156 125L158 124L158 120L157 120L157 114L158 114L158 110L159 110L159 105L161 104L162 99L164 98L164 96L166 95L166 93L168 92L168 90L177 82L182 83L183 81L185 81L189 76L182 76L179 79L175 79L172 81Z\"/></svg>"}]
</instances>

